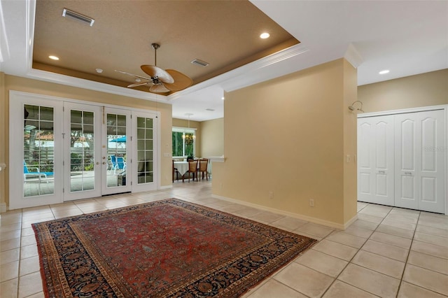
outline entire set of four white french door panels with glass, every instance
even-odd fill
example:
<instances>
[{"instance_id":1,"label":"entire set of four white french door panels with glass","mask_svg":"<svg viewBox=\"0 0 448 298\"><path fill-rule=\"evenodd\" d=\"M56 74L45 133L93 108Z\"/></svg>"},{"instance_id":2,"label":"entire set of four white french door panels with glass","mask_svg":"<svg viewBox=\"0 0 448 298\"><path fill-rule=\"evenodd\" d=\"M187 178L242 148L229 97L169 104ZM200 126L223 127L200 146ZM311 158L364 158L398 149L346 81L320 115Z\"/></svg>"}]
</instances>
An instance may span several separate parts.
<instances>
[{"instance_id":1,"label":"entire set of four white french door panels with glass","mask_svg":"<svg viewBox=\"0 0 448 298\"><path fill-rule=\"evenodd\" d=\"M158 113L10 91L9 208L157 190L159 130Z\"/></svg>"}]
</instances>

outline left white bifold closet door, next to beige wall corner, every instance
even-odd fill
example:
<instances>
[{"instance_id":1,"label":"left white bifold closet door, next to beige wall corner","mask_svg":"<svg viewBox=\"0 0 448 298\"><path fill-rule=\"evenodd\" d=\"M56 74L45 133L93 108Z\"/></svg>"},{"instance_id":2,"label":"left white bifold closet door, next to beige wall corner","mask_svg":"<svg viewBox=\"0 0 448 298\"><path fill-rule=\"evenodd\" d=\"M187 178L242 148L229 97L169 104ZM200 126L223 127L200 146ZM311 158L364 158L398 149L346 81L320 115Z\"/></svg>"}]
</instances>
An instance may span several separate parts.
<instances>
[{"instance_id":1,"label":"left white bifold closet door, next to beige wall corner","mask_svg":"<svg viewBox=\"0 0 448 298\"><path fill-rule=\"evenodd\" d=\"M358 120L358 201L394 202L393 116Z\"/></svg>"}]
</instances>

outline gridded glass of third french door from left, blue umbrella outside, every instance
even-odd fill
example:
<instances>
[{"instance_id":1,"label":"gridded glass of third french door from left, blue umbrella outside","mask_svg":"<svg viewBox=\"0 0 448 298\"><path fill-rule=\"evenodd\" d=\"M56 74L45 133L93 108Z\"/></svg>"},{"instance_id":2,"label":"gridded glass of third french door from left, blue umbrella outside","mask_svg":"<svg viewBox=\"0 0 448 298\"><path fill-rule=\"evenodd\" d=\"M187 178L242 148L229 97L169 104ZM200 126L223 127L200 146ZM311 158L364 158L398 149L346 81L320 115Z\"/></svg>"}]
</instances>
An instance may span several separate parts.
<instances>
[{"instance_id":1,"label":"gridded glass of third french door from left, blue umbrella outside","mask_svg":"<svg viewBox=\"0 0 448 298\"><path fill-rule=\"evenodd\" d=\"M126 185L126 115L107 114L107 187Z\"/></svg>"}]
</instances>

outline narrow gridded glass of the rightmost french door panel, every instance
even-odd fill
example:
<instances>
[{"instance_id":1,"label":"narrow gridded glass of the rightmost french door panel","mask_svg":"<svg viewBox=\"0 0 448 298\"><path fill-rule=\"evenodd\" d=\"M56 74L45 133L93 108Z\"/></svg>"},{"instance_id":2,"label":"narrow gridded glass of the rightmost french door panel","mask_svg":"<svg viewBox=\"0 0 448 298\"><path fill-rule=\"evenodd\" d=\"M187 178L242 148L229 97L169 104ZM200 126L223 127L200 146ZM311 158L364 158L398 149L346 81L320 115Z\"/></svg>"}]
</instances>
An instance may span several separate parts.
<instances>
[{"instance_id":1,"label":"narrow gridded glass of the rightmost french door panel","mask_svg":"<svg viewBox=\"0 0 448 298\"><path fill-rule=\"evenodd\" d=\"M154 182L153 119L137 118L137 183Z\"/></svg>"}]
</instances>

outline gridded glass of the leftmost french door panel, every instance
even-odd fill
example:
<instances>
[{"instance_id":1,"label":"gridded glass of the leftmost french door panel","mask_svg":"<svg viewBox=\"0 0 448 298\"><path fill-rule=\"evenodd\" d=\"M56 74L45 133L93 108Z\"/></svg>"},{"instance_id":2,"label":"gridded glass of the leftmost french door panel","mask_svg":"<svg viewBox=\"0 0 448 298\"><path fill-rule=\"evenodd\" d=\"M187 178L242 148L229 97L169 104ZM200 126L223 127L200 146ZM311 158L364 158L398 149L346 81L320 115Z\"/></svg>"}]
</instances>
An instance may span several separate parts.
<instances>
[{"instance_id":1,"label":"gridded glass of the leftmost french door panel","mask_svg":"<svg viewBox=\"0 0 448 298\"><path fill-rule=\"evenodd\" d=\"M23 190L25 197L55 192L53 118L53 108L24 106Z\"/></svg>"}]
</instances>

